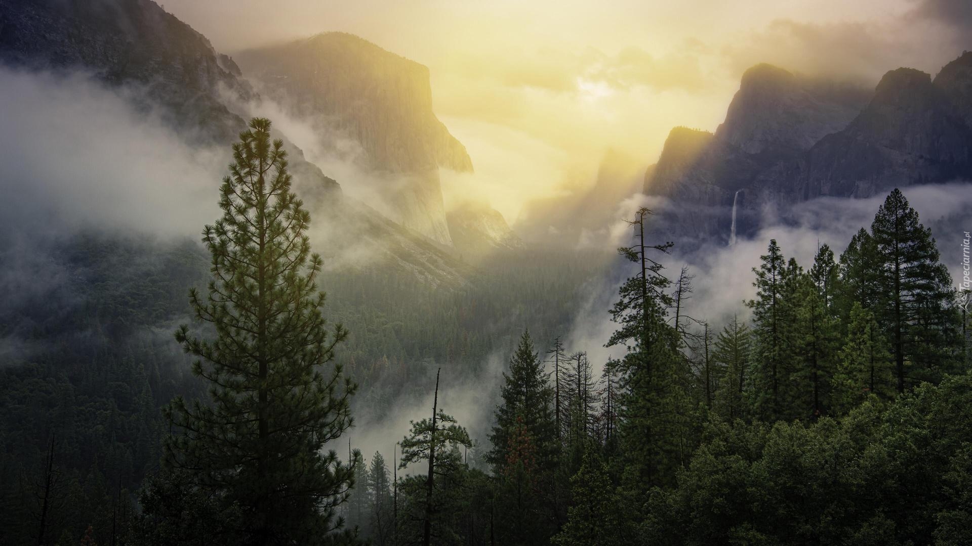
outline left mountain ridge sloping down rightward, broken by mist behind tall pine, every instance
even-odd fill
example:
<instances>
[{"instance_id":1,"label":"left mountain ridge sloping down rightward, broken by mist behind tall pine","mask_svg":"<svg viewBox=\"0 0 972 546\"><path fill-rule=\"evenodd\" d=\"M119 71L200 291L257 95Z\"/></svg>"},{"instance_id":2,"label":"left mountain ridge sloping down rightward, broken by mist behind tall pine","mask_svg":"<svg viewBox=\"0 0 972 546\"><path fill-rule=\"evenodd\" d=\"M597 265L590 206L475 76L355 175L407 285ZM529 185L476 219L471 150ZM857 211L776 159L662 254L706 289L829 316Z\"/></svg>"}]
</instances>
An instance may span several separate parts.
<instances>
[{"instance_id":1,"label":"left mountain ridge sloping down rightward, broken by mist behind tall pine","mask_svg":"<svg viewBox=\"0 0 972 546\"><path fill-rule=\"evenodd\" d=\"M93 74L131 90L124 96L187 142L226 146L227 157L229 143L246 127L246 106L260 98L232 59L150 0L0 0L0 62ZM433 285L466 283L467 265L345 195L280 136L295 188L315 219L315 247L332 262L354 266L366 258ZM218 187L213 181L214 200Z\"/></svg>"}]
</instances>

